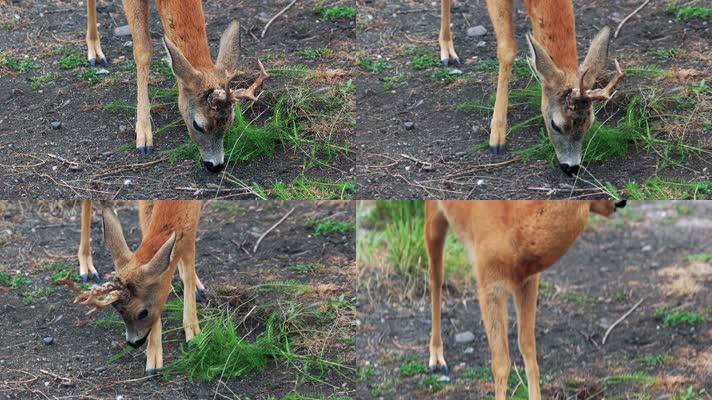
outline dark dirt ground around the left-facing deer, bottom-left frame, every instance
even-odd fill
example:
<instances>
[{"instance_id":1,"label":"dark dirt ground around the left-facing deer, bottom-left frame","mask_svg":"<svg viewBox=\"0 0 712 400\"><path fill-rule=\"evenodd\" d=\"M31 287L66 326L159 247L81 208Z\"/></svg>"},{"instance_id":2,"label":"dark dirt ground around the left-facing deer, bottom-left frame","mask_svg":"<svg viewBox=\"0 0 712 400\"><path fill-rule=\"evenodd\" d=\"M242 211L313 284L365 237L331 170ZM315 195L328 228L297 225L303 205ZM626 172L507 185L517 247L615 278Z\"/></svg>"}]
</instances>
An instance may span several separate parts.
<instances>
[{"instance_id":1,"label":"dark dirt ground around the left-facing deer, bottom-left frame","mask_svg":"<svg viewBox=\"0 0 712 400\"><path fill-rule=\"evenodd\" d=\"M266 236L258 251L253 253L257 238L291 208L295 211ZM134 248L140 240L135 206L123 203L117 209L127 242ZM3 215L0 220L0 272L11 276L22 274L28 281L19 289L0 287L0 325L3 327L0 330L0 395L3 398L196 399L217 396L281 399L287 394L299 393L331 399L349 396L355 390L354 345L346 338L336 340L333 337L336 334L326 342L316 342L315 346L323 346L320 354L325 359L338 360L343 367L328 369L317 380L303 379L294 366L298 362L290 364L284 360L269 362L261 372L223 379L222 383L189 383L180 375L146 380L145 347L109 362L109 358L124 347L124 329L121 323L99 327L97 321L116 312L109 307L87 317L84 307L71 303L72 295L67 289L50 281L50 272L57 265L70 270L78 268L75 258L79 241L78 202L1 202L0 212ZM208 291L207 305L215 306L225 301L220 293L228 290L226 288L249 288L286 280L306 285L334 285L332 290L321 294L286 293L286 299L307 307L318 307L341 295L349 302L355 296L355 287L351 283L355 257L353 230L317 236L306 226L306 221L328 218L353 224L353 215L354 207L350 203L244 201L204 204L198 230L196 271ZM100 273L107 274L113 268L111 258L100 244L98 215L94 219L94 263ZM301 272L292 268L300 264L320 267ZM40 294L23 302L27 293ZM277 295L260 293L257 291L255 305L274 301ZM206 307L206 303L198 307ZM246 312L242 311L243 314ZM345 309L329 329L350 336L348 333L354 331L354 319L353 311ZM248 332L239 334L249 335ZM48 336L53 337L51 345L43 342ZM181 329L169 332L164 328L166 364L176 359L183 341ZM69 381L56 379L52 374Z\"/></svg>"}]
</instances>

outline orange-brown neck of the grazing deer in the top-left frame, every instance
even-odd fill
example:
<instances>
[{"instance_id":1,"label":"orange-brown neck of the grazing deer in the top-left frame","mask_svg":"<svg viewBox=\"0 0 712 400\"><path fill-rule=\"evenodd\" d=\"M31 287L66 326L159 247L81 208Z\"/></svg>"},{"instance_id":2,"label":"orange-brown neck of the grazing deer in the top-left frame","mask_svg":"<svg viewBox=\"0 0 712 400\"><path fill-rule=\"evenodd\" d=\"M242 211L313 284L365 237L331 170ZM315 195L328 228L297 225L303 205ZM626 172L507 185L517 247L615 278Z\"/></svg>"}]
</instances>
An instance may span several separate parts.
<instances>
[{"instance_id":1,"label":"orange-brown neck of the grazing deer in the top-left frame","mask_svg":"<svg viewBox=\"0 0 712 400\"><path fill-rule=\"evenodd\" d=\"M178 46L193 68L203 72L212 70L200 0L156 0L156 8L166 36Z\"/></svg>"}]
</instances>

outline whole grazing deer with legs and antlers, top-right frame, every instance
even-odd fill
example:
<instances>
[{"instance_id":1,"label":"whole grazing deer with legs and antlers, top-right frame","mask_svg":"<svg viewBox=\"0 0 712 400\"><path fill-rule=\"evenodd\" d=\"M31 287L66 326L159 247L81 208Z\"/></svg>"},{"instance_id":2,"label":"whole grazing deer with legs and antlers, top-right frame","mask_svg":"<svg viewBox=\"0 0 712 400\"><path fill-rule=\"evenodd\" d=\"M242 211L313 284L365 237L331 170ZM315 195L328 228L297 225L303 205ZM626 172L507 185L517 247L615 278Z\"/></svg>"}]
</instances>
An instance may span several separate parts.
<instances>
[{"instance_id":1,"label":"whole grazing deer with legs and antlers, top-right frame","mask_svg":"<svg viewBox=\"0 0 712 400\"><path fill-rule=\"evenodd\" d=\"M581 165L584 135L594 121L593 102L608 101L625 73L614 60L616 75L602 89L593 89L608 59L610 29L603 27L591 41L581 66L576 53L576 29L571 0L524 0L532 33L526 35L527 61L541 82L541 113L554 147L559 168L574 176ZM506 152L509 79L517 53L512 20L512 0L487 0L487 10L497 39L499 71L497 94L490 123L489 150ZM461 64L450 31L450 0L441 0L440 60Z\"/></svg>"}]
</instances>

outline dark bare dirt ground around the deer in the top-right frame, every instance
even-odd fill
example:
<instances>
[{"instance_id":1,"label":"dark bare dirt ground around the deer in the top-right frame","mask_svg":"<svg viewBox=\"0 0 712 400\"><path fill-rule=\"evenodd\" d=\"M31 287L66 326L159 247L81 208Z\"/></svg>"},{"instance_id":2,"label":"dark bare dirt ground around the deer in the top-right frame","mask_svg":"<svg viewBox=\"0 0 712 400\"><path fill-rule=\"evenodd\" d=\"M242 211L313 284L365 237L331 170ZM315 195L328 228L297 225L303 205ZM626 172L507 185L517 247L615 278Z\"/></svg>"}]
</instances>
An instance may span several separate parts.
<instances>
[{"instance_id":1,"label":"dark bare dirt ground around the deer in the top-right frame","mask_svg":"<svg viewBox=\"0 0 712 400\"><path fill-rule=\"evenodd\" d=\"M602 26L615 30L618 23L640 5L637 0L574 0L573 3L580 59ZM676 20L667 10L668 3L650 2L633 16L618 38L611 40L610 57L617 57L624 69L655 64L670 76L661 78L629 72L618 85L618 95L597 114L598 120L610 118L609 124L614 124L622 118L627 104L635 96L649 94L654 89L662 89L661 93L669 96L682 93L703 79L710 81L709 19ZM670 165L664 162L669 156L664 145L651 149L631 144L624 156L584 163L589 173L581 174L581 178L574 181L558 166L543 160L524 163L515 154L532 147L543 132L541 119L535 118L540 115L538 106L523 99L510 100L510 127L534 119L528 126L508 135L508 152L504 156L492 155L482 146L488 141L491 111L465 111L459 107L466 101L487 104L496 90L496 72L481 69L496 57L494 31L484 0L453 2L455 50L464 65L457 67L462 71L460 79L450 84L433 79L432 75L440 67L415 70L411 63L417 55L439 57L439 2L363 0L359 4L357 39L361 55L385 63L380 73L362 71L358 84L359 129L355 148L359 151L359 198L599 198L607 197L602 187L608 182L618 191L617 195L626 197L630 193L623 188L629 181L642 184L655 177L686 183L710 180L709 92L696 97L687 109L671 112L685 116L682 125L679 121L675 126L668 125L672 122L667 120L663 132L657 133L663 140L705 151L690 155L678 165ZM523 58L529 20L523 3L515 1L514 4L517 57ZM467 28L477 25L483 25L486 34L468 37ZM675 57L656 53L658 49L670 48L684 50ZM602 81L612 76L612 61L608 68L600 78ZM681 79L688 72L693 75ZM386 82L391 79L396 83ZM524 88L530 79L528 71L515 76L510 90ZM406 122L414 124L412 129L406 129ZM429 165L426 167L426 164ZM697 198L700 195L698 193ZM710 193L702 196L709 197ZM692 198L689 194L670 193L667 198L683 197Z\"/></svg>"}]
</instances>

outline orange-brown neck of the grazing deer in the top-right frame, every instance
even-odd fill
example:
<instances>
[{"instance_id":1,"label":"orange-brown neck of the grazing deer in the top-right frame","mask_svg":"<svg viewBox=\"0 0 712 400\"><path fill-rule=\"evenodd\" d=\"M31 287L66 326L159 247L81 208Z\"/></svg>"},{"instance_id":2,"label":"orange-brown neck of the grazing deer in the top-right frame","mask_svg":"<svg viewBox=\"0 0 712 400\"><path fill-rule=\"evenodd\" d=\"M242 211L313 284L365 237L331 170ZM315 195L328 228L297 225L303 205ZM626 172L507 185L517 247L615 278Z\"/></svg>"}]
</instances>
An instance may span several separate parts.
<instances>
[{"instance_id":1,"label":"orange-brown neck of the grazing deer in the top-right frame","mask_svg":"<svg viewBox=\"0 0 712 400\"><path fill-rule=\"evenodd\" d=\"M525 0L534 38L565 74L578 76L576 22L571 0Z\"/></svg>"}]
</instances>

